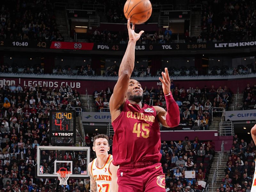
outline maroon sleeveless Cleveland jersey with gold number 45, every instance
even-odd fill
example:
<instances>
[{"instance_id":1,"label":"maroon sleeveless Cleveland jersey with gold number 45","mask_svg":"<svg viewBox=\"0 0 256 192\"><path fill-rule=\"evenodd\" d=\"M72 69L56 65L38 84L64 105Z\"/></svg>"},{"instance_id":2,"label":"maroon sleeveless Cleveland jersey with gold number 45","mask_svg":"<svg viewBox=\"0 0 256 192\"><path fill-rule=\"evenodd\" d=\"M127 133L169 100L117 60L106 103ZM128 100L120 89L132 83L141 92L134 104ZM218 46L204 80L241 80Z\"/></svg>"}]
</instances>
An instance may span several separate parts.
<instances>
[{"instance_id":1,"label":"maroon sleeveless Cleveland jersey with gold number 45","mask_svg":"<svg viewBox=\"0 0 256 192\"><path fill-rule=\"evenodd\" d=\"M143 104L140 108L126 100L112 126L114 165L160 162L160 127L153 106Z\"/></svg>"}]
</instances>

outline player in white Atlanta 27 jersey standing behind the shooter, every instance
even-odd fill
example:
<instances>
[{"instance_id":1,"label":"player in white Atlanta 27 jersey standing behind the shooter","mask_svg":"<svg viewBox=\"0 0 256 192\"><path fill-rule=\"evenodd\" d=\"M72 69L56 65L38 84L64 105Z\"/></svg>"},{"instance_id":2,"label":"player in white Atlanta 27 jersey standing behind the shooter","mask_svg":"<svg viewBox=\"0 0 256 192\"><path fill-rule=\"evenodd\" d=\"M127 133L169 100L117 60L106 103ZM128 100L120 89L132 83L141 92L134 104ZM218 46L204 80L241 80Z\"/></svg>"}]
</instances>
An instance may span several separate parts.
<instances>
[{"instance_id":1,"label":"player in white Atlanta 27 jersey standing behind the shooter","mask_svg":"<svg viewBox=\"0 0 256 192\"><path fill-rule=\"evenodd\" d=\"M112 164L112 155L108 155L107 135L96 135L93 138L92 150L96 152L97 158L88 165L91 192L117 192L118 167Z\"/></svg>"}]
</instances>

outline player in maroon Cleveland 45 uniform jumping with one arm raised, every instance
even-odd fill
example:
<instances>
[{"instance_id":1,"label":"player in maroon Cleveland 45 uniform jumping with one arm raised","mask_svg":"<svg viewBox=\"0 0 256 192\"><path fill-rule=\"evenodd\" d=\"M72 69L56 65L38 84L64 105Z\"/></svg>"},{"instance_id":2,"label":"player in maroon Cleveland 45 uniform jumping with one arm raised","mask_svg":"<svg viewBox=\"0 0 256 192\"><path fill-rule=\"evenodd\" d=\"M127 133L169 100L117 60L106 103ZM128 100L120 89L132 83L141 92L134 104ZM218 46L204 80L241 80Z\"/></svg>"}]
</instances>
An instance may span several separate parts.
<instances>
[{"instance_id":1,"label":"player in maroon Cleveland 45 uniform jumping with one arm raised","mask_svg":"<svg viewBox=\"0 0 256 192\"><path fill-rule=\"evenodd\" d=\"M118 80L109 101L113 138L113 164L118 166L118 191L165 192L165 176L161 166L161 140L159 123L175 127L180 123L179 107L170 91L171 81L167 68L162 72L163 92L167 112L159 106L142 104L143 89L135 79L130 79L135 58L135 45L140 35L135 25L127 28L129 42L121 62Z\"/></svg>"}]
</instances>

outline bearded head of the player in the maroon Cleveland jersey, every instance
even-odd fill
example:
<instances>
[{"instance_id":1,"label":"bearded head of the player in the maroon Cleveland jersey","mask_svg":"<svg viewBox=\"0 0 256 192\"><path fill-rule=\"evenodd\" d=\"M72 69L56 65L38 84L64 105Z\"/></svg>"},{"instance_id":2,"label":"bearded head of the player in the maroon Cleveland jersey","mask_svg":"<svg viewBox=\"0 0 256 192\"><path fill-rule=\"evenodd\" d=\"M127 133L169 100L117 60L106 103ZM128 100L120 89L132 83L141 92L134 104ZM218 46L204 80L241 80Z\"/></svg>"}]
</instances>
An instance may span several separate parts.
<instances>
[{"instance_id":1,"label":"bearded head of the player in the maroon Cleveland jersey","mask_svg":"<svg viewBox=\"0 0 256 192\"><path fill-rule=\"evenodd\" d=\"M134 79L130 79L128 90L126 93L126 98L128 100L133 100L139 103L142 100L142 94L143 94L143 89L141 88L141 84Z\"/></svg>"}]
</instances>

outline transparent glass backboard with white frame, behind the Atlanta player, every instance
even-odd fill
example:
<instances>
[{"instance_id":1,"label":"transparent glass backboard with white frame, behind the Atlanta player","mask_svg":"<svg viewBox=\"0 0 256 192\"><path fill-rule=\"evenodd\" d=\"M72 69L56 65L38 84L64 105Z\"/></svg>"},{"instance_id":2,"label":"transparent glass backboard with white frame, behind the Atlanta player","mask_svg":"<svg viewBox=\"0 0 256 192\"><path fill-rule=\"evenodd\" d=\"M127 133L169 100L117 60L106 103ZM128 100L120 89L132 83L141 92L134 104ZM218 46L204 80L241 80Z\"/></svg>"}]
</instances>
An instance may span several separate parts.
<instances>
[{"instance_id":1,"label":"transparent glass backboard with white frame, behind the Atlanta player","mask_svg":"<svg viewBox=\"0 0 256 192\"><path fill-rule=\"evenodd\" d=\"M90 147L38 146L37 178L58 178L57 171L67 168L70 178L89 177Z\"/></svg>"}]
</instances>

